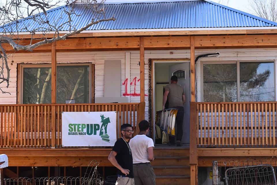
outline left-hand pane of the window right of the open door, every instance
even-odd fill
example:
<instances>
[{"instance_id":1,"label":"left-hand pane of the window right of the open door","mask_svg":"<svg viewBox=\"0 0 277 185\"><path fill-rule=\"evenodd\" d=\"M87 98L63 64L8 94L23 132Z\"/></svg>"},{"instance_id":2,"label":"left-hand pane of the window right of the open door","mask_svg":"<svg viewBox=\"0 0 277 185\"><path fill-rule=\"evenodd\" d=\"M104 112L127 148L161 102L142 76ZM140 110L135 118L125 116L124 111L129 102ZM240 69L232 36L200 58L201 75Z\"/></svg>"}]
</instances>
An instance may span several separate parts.
<instances>
[{"instance_id":1,"label":"left-hand pane of the window right of the open door","mask_svg":"<svg viewBox=\"0 0 277 185\"><path fill-rule=\"evenodd\" d=\"M203 64L203 101L237 101L237 64Z\"/></svg>"}]
</instances>

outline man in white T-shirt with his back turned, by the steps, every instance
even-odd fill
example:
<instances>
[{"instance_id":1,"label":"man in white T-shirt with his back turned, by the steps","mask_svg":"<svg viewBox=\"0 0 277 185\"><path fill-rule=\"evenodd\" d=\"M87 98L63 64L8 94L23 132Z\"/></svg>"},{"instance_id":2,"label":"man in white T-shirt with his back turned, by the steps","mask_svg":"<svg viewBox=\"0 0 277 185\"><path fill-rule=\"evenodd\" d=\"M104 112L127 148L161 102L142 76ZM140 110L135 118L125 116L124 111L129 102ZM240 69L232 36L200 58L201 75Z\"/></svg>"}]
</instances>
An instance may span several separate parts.
<instances>
[{"instance_id":1,"label":"man in white T-shirt with his back turned, by the steps","mask_svg":"<svg viewBox=\"0 0 277 185\"><path fill-rule=\"evenodd\" d=\"M139 123L139 134L130 140L133 155L133 170L135 185L156 185L156 175L150 164L154 160L154 142L146 134L149 131L149 122Z\"/></svg>"}]
</instances>

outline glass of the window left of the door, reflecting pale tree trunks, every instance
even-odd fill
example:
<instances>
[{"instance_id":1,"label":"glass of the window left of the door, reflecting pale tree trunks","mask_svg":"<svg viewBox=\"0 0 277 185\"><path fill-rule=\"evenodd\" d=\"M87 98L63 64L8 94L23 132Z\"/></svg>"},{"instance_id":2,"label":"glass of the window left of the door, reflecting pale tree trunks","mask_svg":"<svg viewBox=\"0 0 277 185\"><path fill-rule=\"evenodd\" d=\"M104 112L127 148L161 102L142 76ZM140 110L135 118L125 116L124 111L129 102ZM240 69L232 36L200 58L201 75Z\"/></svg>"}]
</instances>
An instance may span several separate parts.
<instances>
[{"instance_id":1,"label":"glass of the window left of the door, reflecting pale tree trunks","mask_svg":"<svg viewBox=\"0 0 277 185\"><path fill-rule=\"evenodd\" d=\"M22 103L51 103L51 66L22 65ZM91 65L57 65L57 103L91 102Z\"/></svg>"}]
</instances>

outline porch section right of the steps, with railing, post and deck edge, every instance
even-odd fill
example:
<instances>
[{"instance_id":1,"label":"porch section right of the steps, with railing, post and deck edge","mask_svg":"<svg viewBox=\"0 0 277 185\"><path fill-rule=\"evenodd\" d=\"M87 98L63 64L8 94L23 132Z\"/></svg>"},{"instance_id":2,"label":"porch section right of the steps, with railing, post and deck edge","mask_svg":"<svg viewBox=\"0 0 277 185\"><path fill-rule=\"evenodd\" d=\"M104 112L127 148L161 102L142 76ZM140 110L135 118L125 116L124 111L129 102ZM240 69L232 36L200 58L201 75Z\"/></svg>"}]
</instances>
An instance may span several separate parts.
<instances>
[{"instance_id":1,"label":"porch section right of the steps, with railing, post and deck edge","mask_svg":"<svg viewBox=\"0 0 277 185\"><path fill-rule=\"evenodd\" d=\"M276 102L191 102L191 181L219 158L276 156Z\"/></svg>"}]
</instances>

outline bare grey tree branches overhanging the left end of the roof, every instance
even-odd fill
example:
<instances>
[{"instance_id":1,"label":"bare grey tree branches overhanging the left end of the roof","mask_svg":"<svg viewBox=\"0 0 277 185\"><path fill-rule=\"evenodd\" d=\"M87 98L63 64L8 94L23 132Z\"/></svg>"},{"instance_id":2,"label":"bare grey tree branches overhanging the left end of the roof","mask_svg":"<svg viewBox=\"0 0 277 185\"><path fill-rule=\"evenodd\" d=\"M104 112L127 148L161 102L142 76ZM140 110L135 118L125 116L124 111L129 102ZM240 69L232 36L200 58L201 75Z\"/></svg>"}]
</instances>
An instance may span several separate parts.
<instances>
[{"instance_id":1,"label":"bare grey tree branches overhanging the left end of the roof","mask_svg":"<svg viewBox=\"0 0 277 185\"><path fill-rule=\"evenodd\" d=\"M66 1L66 5L61 6L61 13L55 16L48 16L47 10L57 7L63 0L7 0L4 5L0 6L0 58L2 65L0 66L0 84L7 83L9 87L10 69L8 66L8 56L2 44L9 44L14 51L33 51L36 47L59 40L65 40L69 36L73 36L88 29L92 25L105 22L115 21L115 17L106 18L104 8L104 0L97 2L96 0L84 0L83 4L75 5L70 0ZM84 13L79 13L76 8L83 8ZM81 11L81 12L82 12ZM76 13L78 12L78 13ZM90 15L90 22L79 28L80 22L76 21L76 17ZM65 18L67 17L67 18ZM35 25L35 26L34 26ZM68 27L68 32L61 34L64 27ZM78 29L77 29L78 28ZM19 32L29 33L31 39L28 45L25 45L24 38L19 37ZM42 32L44 38L33 38L37 32ZM48 38L49 33L54 33ZM36 43L33 43L36 40ZM0 91L4 92L1 87Z\"/></svg>"}]
</instances>

